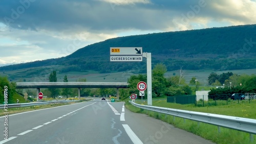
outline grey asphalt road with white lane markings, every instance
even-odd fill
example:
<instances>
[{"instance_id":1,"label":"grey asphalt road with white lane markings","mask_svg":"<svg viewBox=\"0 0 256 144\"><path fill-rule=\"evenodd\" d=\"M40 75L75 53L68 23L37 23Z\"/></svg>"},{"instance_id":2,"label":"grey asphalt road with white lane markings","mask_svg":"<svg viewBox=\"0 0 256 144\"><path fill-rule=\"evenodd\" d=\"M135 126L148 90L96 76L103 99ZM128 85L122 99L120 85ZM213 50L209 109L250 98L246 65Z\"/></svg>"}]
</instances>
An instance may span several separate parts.
<instances>
[{"instance_id":1,"label":"grey asphalt road with white lane markings","mask_svg":"<svg viewBox=\"0 0 256 144\"><path fill-rule=\"evenodd\" d=\"M123 102L84 102L0 117L0 143L212 143L145 114Z\"/></svg>"}]
</instances>

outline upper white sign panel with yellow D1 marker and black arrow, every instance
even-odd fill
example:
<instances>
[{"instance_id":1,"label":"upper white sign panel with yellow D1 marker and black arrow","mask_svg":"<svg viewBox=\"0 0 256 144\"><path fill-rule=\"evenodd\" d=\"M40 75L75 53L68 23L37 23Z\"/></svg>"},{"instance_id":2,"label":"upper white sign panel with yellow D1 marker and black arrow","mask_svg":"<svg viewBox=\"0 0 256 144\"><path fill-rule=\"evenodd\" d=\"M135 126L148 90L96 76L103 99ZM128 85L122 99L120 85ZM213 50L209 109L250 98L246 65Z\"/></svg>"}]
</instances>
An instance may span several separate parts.
<instances>
[{"instance_id":1,"label":"upper white sign panel with yellow D1 marker and black arrow","mask_svg":"<svg viewBox=\"0 0 256 144\"><path fill-rule=\"evenodd\" d=\"M110 47L110 55L142 55L142 47Z\"/></svg>"}]
</instances>

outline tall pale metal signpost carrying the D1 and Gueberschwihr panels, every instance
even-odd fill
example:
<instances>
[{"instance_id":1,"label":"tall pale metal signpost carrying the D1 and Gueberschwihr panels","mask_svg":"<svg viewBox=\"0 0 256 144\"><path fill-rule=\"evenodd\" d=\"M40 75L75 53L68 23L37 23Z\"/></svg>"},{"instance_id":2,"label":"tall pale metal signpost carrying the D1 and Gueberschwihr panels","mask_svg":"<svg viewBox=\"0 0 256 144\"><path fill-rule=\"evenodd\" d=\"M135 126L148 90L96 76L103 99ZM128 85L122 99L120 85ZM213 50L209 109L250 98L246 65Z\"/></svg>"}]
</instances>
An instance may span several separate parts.
<instances>
[{"instance_id":1,"label":"tall pale metal signpost carrying the D1 and Gueberschwihr panels","mask_svg":"<svg viewBox=\"0 0 256 144\"><path fill-rule=\"evenodd\" d=\"M110 47L110 61L142 61L142 57L146 58L147 105L152 105L151 53L142 53L142 47ZM141 86L143 86L143 83Z\"/></svg>"}]
</instances>

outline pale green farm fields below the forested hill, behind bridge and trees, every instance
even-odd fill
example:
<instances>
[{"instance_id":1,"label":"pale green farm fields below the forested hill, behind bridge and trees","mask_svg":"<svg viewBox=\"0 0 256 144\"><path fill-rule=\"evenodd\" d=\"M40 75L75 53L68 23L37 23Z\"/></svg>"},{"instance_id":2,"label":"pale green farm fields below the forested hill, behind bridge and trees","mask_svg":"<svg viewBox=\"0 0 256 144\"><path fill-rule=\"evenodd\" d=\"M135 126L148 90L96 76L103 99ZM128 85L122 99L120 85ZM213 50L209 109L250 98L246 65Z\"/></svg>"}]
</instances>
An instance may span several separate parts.
<instances>
[{"instance_id":1,"label":"pale green farm fields below the forested hill, behind bridge and trees","mask_svg":"<svg viewBox=\"0 0 256 144\"><path fill-rule=\"evenodd\" d=\"M54 68L61 68L62 66L45 66L45 67L34 67L25 68L13 71L2 71L0 76L7 76L11 81L14 82L48 82L49 74ZM192 77L196 77L201 85L207 85L207 79L211 72L217 74L232 72L238 75L252 75L256 74L256 69L237 69L237 70L225 70L225 71L213 71L210 69L201 70L186 70L184 69L184 79L186 83L189 83ZM133 71L124 71L113 73L100 74L97 71L88 70L86 72L70 71L69 73L59 73L57 71L57 81L62 82L64 76L67 75L70 82L75 82L79 78L86 78L88 82L127 82L133 74ZM167 71L165 77L179 76L179 70Z\"/></svg>"}]
</instances>

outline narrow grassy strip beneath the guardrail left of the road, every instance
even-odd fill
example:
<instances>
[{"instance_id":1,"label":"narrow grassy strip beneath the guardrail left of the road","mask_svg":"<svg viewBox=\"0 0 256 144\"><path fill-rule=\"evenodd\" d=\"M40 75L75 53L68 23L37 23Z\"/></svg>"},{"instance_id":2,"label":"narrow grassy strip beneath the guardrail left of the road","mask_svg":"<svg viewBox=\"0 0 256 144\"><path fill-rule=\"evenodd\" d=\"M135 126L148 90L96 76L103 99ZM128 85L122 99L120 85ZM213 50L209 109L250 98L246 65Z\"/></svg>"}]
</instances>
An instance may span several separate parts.
<instances>
[{"instance_id":1,"label":"narrow grassy strip beneath the guardrail left of the road","mask_svg":"<svg viewBox=\"0 0 256 144\"><path fill-rule=\"evenodd\" d=\"M89 100L84 100L89 101ZM69 103L55 103L55 104L49 104L49 105L37 105L37 106L28 106L28 107L18 107L18 108L8 108L9 115L20 113L20 112L26 112L26 111L32 111L32 110L38 110L38 109L45 109L45 108L51 108L51 107L57 107L57 106L63 106L63 105L70 105L74 103L80 103L79 102L69 102ZM5 115L4 109L0 110L0 116Z\"/></svg>"}]
</instances>

